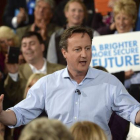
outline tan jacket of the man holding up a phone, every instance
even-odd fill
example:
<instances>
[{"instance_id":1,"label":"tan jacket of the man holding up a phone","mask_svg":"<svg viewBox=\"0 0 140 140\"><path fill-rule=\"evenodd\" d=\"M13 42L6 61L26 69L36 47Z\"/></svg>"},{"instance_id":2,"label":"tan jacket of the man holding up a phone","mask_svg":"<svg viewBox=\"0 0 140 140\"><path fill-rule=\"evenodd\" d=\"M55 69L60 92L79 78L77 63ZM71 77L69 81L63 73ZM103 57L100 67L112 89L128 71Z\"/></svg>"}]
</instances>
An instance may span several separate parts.
<instances>
[{"instance_id":1,"label":"tan jacket of the man holding up a phone","mask_svg":"<svg viewBox=\"0 0 140 140\"><path fill-rule=\"evenodd\" d=\"M65 66L47 62L47 74L51 74L63 68L65 68ZM19 78L17 82L14 82L10 76L7 76L4 83L6 94L13 102L13 105L17 104L23 99L26 83L33 72L29 64L25 63L19 67L18 74Z\"/></svg>"}]
</instances>

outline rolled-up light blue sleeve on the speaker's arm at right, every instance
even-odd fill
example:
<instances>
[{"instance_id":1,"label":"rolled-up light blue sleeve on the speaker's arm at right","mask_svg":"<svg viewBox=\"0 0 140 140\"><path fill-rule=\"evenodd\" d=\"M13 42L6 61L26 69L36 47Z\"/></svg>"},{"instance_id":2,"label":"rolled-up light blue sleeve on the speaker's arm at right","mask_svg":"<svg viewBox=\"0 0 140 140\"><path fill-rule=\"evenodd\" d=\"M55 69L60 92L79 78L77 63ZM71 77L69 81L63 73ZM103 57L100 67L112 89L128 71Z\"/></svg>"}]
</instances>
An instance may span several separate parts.
<instances>
[{"instance_id":1,"label":"rolled-up light blue sleeve on the speaker's arm at right","mask_svg":"<svg viewBox=\"0 0 140 140\"><path fill-rule=\"evenodd\" d=\"M112 93L114 94L111 95L112 109L119 116L135 124L135 117L140 110L140 103L127 92L119 81L116 83L116 87L113 88Z\"/></svg>"}]
</instances>

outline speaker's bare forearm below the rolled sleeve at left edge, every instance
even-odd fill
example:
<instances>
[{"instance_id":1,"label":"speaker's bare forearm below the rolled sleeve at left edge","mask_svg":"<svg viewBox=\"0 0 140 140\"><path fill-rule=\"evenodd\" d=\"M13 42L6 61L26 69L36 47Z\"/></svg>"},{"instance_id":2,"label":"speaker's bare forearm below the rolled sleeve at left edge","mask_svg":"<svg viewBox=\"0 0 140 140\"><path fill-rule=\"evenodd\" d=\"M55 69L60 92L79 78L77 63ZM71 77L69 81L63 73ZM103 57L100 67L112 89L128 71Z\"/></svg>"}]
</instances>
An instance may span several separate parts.
<instances>
[{"instance_id":1,"label":"speaker's bare forearm below the rolled sleeve at left edge","mask_svg":"<svg viewBox=\"0 0 140 140\"><path fill-rule=\"evenodd\" d=\"M16 125L17 119L14 111L12 110L2 111L0 114L0 122L9 126Z\"/></svg>"}]
</instances>

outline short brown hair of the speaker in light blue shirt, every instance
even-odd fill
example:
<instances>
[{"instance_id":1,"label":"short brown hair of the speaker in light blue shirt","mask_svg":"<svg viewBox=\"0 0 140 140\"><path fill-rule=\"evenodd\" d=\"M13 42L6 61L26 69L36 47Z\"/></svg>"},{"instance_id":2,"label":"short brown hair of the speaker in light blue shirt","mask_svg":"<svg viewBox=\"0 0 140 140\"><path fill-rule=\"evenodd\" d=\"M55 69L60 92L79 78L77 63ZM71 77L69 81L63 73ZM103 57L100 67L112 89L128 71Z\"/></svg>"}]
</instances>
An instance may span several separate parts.
<instances>
[{"instance_id":1,"label":"short brown hair of the speaker in light blue shirt","mask_svg":"<svg viewBox=\"0 0 140 140\"><path fill-rule=\"evenodd\" d=\"M74 27L70 27L68 29L66 29L63 34L61 35L61 40L59 43L60 48L67 50L68 47L68 38L71 37L72 34L74 33L87 33L92 41L93 38L93 31L87 27L83 27L83 26L74 26Z\"/></svg>"}]
</instances>

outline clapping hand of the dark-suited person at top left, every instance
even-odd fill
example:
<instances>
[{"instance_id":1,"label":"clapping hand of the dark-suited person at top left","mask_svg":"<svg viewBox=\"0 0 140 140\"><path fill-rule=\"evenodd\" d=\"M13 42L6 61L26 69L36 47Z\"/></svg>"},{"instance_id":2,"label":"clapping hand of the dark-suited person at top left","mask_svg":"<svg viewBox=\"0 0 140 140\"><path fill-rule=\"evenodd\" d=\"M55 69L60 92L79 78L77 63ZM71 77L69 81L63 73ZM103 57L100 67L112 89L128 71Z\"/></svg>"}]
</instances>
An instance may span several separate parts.
<instances>
[{"instance_id":1,"label":"clapping hand of the dark-suited person at top left","mask_svg":"<svg viewBox=\"0 0 140 140\"><path fill-rule=\"evenodd\" d=\"M19 9L19 13L17 15L17 23L18 25L22 22L25 22L27 20L27 14L24 8Z\"/></svg>"}]
</instances>

